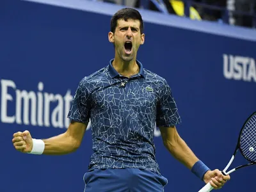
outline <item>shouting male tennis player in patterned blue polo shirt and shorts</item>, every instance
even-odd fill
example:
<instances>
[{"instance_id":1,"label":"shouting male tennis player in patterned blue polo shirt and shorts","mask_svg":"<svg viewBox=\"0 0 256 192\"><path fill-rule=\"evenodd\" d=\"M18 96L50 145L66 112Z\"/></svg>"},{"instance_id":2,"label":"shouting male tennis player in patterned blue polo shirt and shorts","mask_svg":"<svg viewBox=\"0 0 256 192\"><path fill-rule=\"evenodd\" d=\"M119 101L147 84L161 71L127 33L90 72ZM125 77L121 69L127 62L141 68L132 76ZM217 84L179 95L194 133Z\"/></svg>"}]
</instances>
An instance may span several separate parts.
<instances>
[{"instance_id":1,"label":"shouting male tennis player in patterned blue polo shirt and shorts","mask_svg":"<svg viewBox=\"0 0 256 192\"><path fill-rule=\"evenodd\" d=\"M45 140L32 139L29 131L16 132L14 147L29 154L74 152L91 119L94 152L84 174L84 191L163 191L167 179L159 171L153 142L157 125L175 158L205 183L221 188L229 175L209 170L180 138L170 86L136 60L145 41L140 13L132 8L115 13L108 38L115 58L79 82L67 131Z\"/></svg>"}]
</instances>

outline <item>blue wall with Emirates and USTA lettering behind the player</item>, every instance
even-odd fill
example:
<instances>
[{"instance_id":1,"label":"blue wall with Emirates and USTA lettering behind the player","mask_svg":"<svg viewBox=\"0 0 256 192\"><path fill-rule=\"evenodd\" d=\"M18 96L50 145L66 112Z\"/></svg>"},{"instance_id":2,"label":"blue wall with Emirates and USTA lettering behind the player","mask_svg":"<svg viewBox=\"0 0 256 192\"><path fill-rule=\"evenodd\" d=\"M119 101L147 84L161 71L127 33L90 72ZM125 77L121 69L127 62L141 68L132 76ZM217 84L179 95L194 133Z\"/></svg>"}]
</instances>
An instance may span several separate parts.
<instances>
[{"instance_id":1,"label":"blue wall with Emirates and USTA lettering behind the player","mask_svg":"<svg viewBox=\"0 0 256 192\"><path fill-rule=\"evenodd\" d=\"M17 131L28 129L33 138L65 132L68 97L74 95L80 79L108 65L114 56L108 42L109 14L120 7L75 3L73 8L79 10L28 1L0 3L1 192L84 189L83 174L92 154L90 129L79 150L66 156L21 154L12 145ZM94 11L86 10L89 7ZM172 87L182 117L177 127L182 138L210 168L223 169L239 129L255 111L255 31L141 13L146 41L138 59ZM22 90L30 92L35 104L22 102L20 107ZM49 113L47 107L38 107L40 95L55 98ZM165 191L198 191L204 186L168 154L157 130L155 141L157 161L168 179ZM237 157L234 165L244 162ZM253 172L255 167L237 171L223 191L244 191L244 186L253 191L248 176Z\"/></svg>"}]
</instances>

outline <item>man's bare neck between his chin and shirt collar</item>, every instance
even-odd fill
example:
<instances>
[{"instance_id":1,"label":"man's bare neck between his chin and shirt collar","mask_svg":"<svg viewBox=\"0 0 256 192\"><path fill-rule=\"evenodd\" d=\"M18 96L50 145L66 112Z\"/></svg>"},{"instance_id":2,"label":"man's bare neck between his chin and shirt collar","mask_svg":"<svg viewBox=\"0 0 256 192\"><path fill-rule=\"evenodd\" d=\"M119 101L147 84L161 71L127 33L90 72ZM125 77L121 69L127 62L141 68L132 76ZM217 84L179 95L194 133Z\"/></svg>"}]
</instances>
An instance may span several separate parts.
<instances>
[{"instance_id":1,"label":"man's bare neck between his chin and shirt collar","mask_svg":"<svg viewBox=\"0 0 256 192\"><path fill-rule=\"evenodd\" d=\"M122 76L131 77L139 72L139 66L136 63L135 57L131 61L124 61L121 58L115 56L112 65L115 70Z\"/></svg>"}]
</instances>

